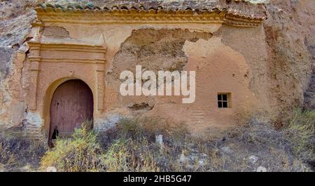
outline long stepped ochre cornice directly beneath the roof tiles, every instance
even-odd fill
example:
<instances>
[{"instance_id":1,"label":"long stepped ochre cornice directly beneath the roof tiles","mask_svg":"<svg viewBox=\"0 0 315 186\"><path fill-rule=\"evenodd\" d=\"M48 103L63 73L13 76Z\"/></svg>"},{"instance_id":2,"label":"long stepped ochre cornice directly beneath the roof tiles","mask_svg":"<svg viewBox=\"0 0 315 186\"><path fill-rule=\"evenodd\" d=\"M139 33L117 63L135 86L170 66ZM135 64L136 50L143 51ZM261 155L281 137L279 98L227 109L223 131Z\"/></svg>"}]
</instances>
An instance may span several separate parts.
<instances>
[{"instance_id":1,"label":"long stepped ochre cornice directly beneath the roof tiles","mask_svg":"<svg viewBox=\"0 0 315 186\"><path fill-rule=\"evenodd\" d=\"M225 8L212 8L202 11L164 10L160 8L127 8L113 6L111 8L38 6L38 18L43 22L66 22L82 24L109 23L223 23L239 27L257 27L265 17L244 15L238 11Z\"/></svg>"}]
</instances>

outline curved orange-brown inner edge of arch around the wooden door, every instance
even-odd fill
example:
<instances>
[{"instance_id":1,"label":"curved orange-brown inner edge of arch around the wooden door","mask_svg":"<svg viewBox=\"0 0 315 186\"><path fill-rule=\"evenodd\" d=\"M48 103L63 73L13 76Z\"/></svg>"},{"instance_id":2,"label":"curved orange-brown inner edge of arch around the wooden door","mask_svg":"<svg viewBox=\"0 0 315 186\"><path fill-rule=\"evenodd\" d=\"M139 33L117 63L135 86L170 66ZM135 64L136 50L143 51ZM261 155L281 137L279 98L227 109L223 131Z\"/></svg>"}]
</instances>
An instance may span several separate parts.
<instances>
[{"instance_id":1,"label":"curved orange-brown inner edge of arch around the wooden door","mask_svg":"<svg viewBox=\"0 0 315 186\"><path fill-rule=\"evenodd\" d=\"M94 102L95 102L95 97L94 97L94 92L92 91L92 88L82 79L76 78L76 77L64 77L61 79L57 79L56 81L52 82L50 86L48 86L47 90L45 91L45 97L43 99L43 119L44 119L44 124L43 124L43 132L45 133L45 138L49 138L49 133L50 133L50 106L52 102L53 95L57 88L59 86L62 86L62 84L65 84L67 81L72 81L72 80L79 80L82 81L83 84L85 84L89 89L92 94L92 100L93 100L93 117L94 118Z\"/></svg>"}]
</instances>

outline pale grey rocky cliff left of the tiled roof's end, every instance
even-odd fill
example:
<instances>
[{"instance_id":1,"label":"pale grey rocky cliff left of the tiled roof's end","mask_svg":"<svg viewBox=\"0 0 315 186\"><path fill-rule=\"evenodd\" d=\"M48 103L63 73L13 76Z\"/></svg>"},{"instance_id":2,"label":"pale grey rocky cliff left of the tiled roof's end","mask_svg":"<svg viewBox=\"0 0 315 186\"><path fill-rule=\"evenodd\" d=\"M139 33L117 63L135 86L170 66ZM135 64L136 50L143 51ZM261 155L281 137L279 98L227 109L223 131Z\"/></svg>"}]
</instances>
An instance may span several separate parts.
<instances>
[{"instance_id":1,"label":"pale grey rocky cliff left of the tiled roof's end","mask_svg":"<svg viewBox=\"0 0 315 186\"><path fill-rule=\"evenodd\" d=\"M36 17L29 6L25 1L0 2L0 81L12 72L16 51L27 41L30 23Z\"/></svg>"}]
</instances>

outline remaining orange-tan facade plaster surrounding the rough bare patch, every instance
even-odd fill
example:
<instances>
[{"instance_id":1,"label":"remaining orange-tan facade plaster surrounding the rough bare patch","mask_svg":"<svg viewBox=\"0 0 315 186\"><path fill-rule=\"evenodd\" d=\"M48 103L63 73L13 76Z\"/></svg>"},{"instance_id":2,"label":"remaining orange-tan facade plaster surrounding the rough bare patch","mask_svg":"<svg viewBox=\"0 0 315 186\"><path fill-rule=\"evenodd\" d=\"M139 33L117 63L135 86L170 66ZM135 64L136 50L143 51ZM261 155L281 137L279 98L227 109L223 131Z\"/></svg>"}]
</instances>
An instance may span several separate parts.
<instances>
[{"instance_id":1,"label":"remaining orange-tan facade plaster surrounding the rough bare patch","mask_svg":"<svg viewBox=\"0 0 315 186\"><path fill-rule=\"evenodd\" d=\"M46 27L50 30L45 34ZM54 28L62 30L62 33L59 32L57 36L54 36ZM178 96L149 98L145 96L123 97L120 95L119 86L121 81L111 75L114 71L113 63L116 62L116 55L120 52L124 42L132 37L133 32L146 29L188 29L190 32L212 35L208 40L186 41L183 48L181 48L188 58L184 70L196 70L197 73L197 95L193 104L182 104L181 98ZM31 69L29 56L32 53L32 50L30 50L30 54L27 55L26 59L25 56L18 59L19 63L23 64L20 67L22 69L20 85L18 84L18 86L22 86L19 99L22 102L18 112L23 112L22 118L28 119L29 133L36 133L35 137L39 136L38 133L41 132L48 133L50 100L55 88L69 79L81 79L90 86L94 95L94 108L96 108L94 110L94 128L96 130L105 130L113 126L122 116L141 115L159 118L168 124L186 124L190 131L196 133L224 131L226 128L239 124L241 119L248 117L252 112L263 110L268 105L264 96L261 97L262 100L258 98L263 93L258 88L260 82L253 80L253 77L255 77L253 67L254 70L257 69L253 65L255 61L251 61L258 58L257 53L264 55L265 48L263 44L258 45L260 51L253 48L254 53L248 54L251 51L244 51L244 48L241 48L246 46L246 41L241 42L240 48L233 43L233 41L240 39L239 36L244 38L249 29L251 29L250 34L256 33L262 39L264 36L263 30L261 27L258 29L239 28L241 34L236 34L234 37L234 31L230 33L226 31L230 29L234 30L234 27L228 27L221 23L90 25L48 22L41 30L34 27L29 34L29 38L36 38L40 34L40 42L44 44L55 42L73 44L73 41L75 41L76 44L104 46L106 51L104 53L104 90L102 91L104 97L102 101L97 100L99 98L98 87L100 87L96 80L98 75L95 68L97 66L80 62L40 62L37 87L35 89L31 88L34 84L31 83L32 75L29 74L29 69ZM226 41L227 38L232 42ZM249 41L248 44L253 47L253 38L249 40L252 41ZM260 42L260 40L256 42ZM67 58L67 53L56 53L49 50L41 51L40 54L47 58L52 55L62 55ZM86 56L87 53L68 53L69 58L84 58ZM256 57L251 58L251 56ZM102 58L97 53L91 53L88 57L91 59ZM264 60L260 59L262 63ZM36 93L30 90L36 90ZM217 93L232 93L233 107L218 109ZM29 98L32 96L33 100ZM34 104L34 101L36 101L36 108L31 109L29 105ZM97 109L99 102L103 104L103 109ZM141 104L147 106L148 109L132 109L135 105L139 106ZM18 124L18 120L22 121L22 118L18 119L18 117L8 116L8 118L17 120L10 122L12 125Z\"/></svg>"}]
</instances>

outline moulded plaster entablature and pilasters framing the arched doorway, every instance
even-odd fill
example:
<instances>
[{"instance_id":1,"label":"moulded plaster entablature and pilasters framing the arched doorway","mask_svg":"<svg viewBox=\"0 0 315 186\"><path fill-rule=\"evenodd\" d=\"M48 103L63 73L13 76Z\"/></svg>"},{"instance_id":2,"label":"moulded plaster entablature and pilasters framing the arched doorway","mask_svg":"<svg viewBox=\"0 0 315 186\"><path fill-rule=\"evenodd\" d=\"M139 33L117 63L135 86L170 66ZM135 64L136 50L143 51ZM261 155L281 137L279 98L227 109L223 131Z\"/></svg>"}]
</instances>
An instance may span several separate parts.
<instances>
[{"instance_id":1,"label":"moulded plaster entablature and pilasters framing the arched doorway","mask_svg":"<svg viewBox=\"0 0 315 186\"><path fill-rule=\"evenodd\" d=\"M59 41L56 43L45 43L37 41L29 41L30 55L29 61L31 67L29 69L30 88L29 88L29 108L37 109L37 92L38 92L38 73L41 71L41 63L67 63L77 65L82 63L90 65L89 68L95 69L95 85L97 91L97 109L104 109L104 76L105 76L105 54L106 46L97 46L90 44L80 44L69 41ZM64 77L69 74L64 74Z\"/></svg>"}]
</instances>

